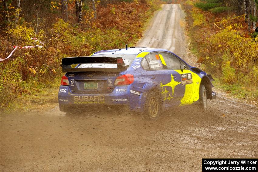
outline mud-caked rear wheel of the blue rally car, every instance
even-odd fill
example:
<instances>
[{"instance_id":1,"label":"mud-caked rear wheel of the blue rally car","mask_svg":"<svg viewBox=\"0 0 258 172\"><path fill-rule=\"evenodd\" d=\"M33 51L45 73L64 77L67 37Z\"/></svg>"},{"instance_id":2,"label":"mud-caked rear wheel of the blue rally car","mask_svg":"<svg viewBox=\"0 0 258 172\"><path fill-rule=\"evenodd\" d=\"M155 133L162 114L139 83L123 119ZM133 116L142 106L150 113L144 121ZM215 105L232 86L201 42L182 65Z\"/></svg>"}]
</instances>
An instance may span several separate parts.
<instances>
[{"instance_id":1,"label":"mud-caked rear wheel of the blue rally car","mask_svg":"<svg viewBox=\"0 0 258 172\"><path fill-rule=\"evenodd\" d=\"M145 115L151 120L157 120L161 113L161 103L159 96L150 93L145 103Z\"/></svg>"}]
</instances>

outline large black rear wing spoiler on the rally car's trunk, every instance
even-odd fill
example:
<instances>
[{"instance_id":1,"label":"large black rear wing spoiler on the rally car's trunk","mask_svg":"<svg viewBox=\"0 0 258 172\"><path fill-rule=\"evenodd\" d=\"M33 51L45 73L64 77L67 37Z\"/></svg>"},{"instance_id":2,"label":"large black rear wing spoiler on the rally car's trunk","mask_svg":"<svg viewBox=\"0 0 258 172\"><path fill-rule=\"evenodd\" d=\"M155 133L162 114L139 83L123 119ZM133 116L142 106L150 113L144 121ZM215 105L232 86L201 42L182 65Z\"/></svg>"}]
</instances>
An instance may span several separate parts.
<instances>
[{"instance_id":1,"label":"large black rear wing spoiler on the rally car's trunk","mask_svg":"<svg viewBox=\"0 0 258 172\"><path fill-rule=\"evenodd\" d=\"M83 63L108 63L117 64L117 68L72 68L71 65ZM127 69L122 57L66 57L62 58L62 71L63 72L121 72Z\"/></svg>"}]
</instances>

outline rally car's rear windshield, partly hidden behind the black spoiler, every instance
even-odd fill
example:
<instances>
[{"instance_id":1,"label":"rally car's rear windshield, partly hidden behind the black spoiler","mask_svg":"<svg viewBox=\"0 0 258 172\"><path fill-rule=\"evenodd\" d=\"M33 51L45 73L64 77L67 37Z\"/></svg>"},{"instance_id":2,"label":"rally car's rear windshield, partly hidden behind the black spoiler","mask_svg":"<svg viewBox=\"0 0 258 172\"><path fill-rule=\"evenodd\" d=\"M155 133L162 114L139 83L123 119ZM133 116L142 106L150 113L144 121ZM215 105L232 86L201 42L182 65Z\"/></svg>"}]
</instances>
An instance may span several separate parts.
<instances>
[{"instance_id":1,"label":"rally car's rear windshield, partly hidden behind the black spoiler","mask_svg":"<svg viewBox=\"0 0 258 172\"><path fill-rule=\"evenodd\" d=\"M137 54L96 54L91 57L122 57L125 63L125 66L131 66L131 63L134 61ZM108 64L108 63L84 63L77 66L78 68L117 68L117 64Z\"/></svg>"}]
</instances>

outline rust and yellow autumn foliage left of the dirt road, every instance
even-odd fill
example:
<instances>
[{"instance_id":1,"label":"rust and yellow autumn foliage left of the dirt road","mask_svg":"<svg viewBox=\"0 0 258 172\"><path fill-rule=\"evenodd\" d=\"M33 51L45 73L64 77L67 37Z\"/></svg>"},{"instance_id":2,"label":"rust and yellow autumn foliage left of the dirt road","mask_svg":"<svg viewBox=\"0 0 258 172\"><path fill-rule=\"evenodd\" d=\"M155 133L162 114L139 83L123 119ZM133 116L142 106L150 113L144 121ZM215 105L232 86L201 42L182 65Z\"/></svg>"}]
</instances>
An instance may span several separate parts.
<instances>
[{"instance_id":1,"label":"rust and yellow autumn foliage left of the dirt road","mask_svg":"<svg viewBox=\"0 0 258 172\"><path fill-rule=\"evenodd\" d=\"M15 24L15 9L12 8L9 10L12 12L9 13L10 22L2 20L0 58L6 58L12 52L12 46L33 45L31 37L37 37L45 45L43 48L17 49L11 58L0 62L0 107L10 106L18 96L40 92L56 83L55 79L59 80L62 74L63 57L89 56L98 50L122 48L126 43L133 45L142 36L141 28L146 20L159 8L158 2L151 0L114 1L104 5L96 1L97 19L94 19L91 4L84 4L83 20L77 23L73 1L68 1L68 22L61 19L60 4L56 2L40 1L38 18L35 14L21 13ZM29 1L24 3L30 8ZM3 10L3 6L0 9Z\"/></svg>"}]
</instances>

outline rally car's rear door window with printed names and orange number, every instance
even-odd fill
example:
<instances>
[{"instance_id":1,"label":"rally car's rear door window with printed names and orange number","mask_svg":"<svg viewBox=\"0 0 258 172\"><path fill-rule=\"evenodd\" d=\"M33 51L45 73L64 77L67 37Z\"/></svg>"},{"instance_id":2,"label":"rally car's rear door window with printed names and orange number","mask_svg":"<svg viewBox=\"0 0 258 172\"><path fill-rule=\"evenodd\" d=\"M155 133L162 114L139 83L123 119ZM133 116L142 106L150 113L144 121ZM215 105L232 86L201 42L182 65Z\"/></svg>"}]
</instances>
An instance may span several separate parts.
<instances>
[{"instance_id":1,"label":"rally car's rear door window with printed names and orange number","mask_svg":"<svg viewBox=\"0 0 258 172\"><path fill-rule=\"evenodd\" d=\"M161 59L158 56L158 53L150 53L145 57L146 60L143 60L142 66L144 69L150 69L150 70L157 70L157 69L163 69L163 65L161 62ZM144 64L147 61L149 68L147 68L146 64Z\"/></svg>"}]
</instances>

